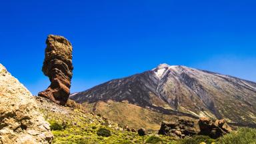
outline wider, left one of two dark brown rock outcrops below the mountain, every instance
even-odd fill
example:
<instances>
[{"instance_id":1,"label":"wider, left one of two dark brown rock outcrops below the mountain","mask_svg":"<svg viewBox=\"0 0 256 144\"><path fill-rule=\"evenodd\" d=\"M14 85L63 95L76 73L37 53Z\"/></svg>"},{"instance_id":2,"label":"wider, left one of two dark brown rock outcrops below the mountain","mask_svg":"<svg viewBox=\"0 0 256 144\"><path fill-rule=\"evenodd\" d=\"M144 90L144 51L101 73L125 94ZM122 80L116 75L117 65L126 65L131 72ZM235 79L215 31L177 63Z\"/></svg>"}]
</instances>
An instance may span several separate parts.
<instances>
[{"instance_id":1,"label":"wider, left one of two dark brown rock outcrops below the mountain","mask_svg":"<svg viewBox=\"0 0 256 144\"><path fill-rule=\"evenodd\" d=\"M194 121L179 119L177 122L161 124L161 128L158 132L159 135L168 135L173 137L191 137L197 134L197 129Z\"/></svg>"}]
</instances>

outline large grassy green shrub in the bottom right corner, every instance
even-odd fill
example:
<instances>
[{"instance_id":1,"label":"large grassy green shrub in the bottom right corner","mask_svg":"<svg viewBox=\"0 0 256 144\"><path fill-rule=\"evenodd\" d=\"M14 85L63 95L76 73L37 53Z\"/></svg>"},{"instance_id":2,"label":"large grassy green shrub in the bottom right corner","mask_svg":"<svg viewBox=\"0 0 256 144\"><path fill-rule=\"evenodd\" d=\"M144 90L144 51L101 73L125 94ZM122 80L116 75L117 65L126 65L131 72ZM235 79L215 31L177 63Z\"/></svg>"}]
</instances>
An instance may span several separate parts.
<instances>
[{"instance_id":1,"label":"large grassy green shrub in the bottom right corner","mask_svg":"<svg viewBox=\"0 0 256 144\"><path fill-rule=\"evenodd\" d=\"M240 128L238 131L233 131L218 139L221 144L255 144L256 143L256 129Z\"/></svg>"}]
</instances>

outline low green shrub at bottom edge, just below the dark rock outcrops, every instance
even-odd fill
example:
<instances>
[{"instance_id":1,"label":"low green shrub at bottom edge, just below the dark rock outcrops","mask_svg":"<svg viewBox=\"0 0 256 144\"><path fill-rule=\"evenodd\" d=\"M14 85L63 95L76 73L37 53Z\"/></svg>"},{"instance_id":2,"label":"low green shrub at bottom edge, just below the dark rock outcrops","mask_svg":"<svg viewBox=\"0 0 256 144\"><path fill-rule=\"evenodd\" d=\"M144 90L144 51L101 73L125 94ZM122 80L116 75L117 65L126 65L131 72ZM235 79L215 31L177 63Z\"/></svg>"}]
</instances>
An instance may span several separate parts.
<instances>
[{"instance_id":1,"label":"low green shrub at bottom edge, just below the dark rock outcrops","mask_svg":"<svg viewBox=\"0 0 256 144\"><path fill-rule=\"evenodd\" d=\"M211 144L211 143L215 142L215 140L211 139L211 137L205 136L205 135L195 135L194 137L181 140L182 144L198 144L198 143L202 143L202 142Z\"/></svg>"}]
</instances>

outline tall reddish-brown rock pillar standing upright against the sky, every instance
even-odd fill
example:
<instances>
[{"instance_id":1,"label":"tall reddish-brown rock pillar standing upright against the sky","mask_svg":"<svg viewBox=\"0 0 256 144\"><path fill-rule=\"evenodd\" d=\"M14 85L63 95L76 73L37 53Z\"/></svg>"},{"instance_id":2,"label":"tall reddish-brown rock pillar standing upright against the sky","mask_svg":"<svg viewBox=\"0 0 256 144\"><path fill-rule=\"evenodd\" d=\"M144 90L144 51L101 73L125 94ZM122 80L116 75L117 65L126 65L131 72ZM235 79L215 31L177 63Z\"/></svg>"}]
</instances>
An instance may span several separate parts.
<instances>
[{"instance_id":1,"label":"tall reddish-brown rock pillar standing upright against the sky","mask_svg":"<svg viewBox=\"0 0 256 144\"><path fill-rule=\"evenodd\" d=\"M48 35L46 40L43 73L49 77L51 85L38 95L65 105L69 99L72 78L72 46L65 37Z\"/></svg>"}]
</instances>

